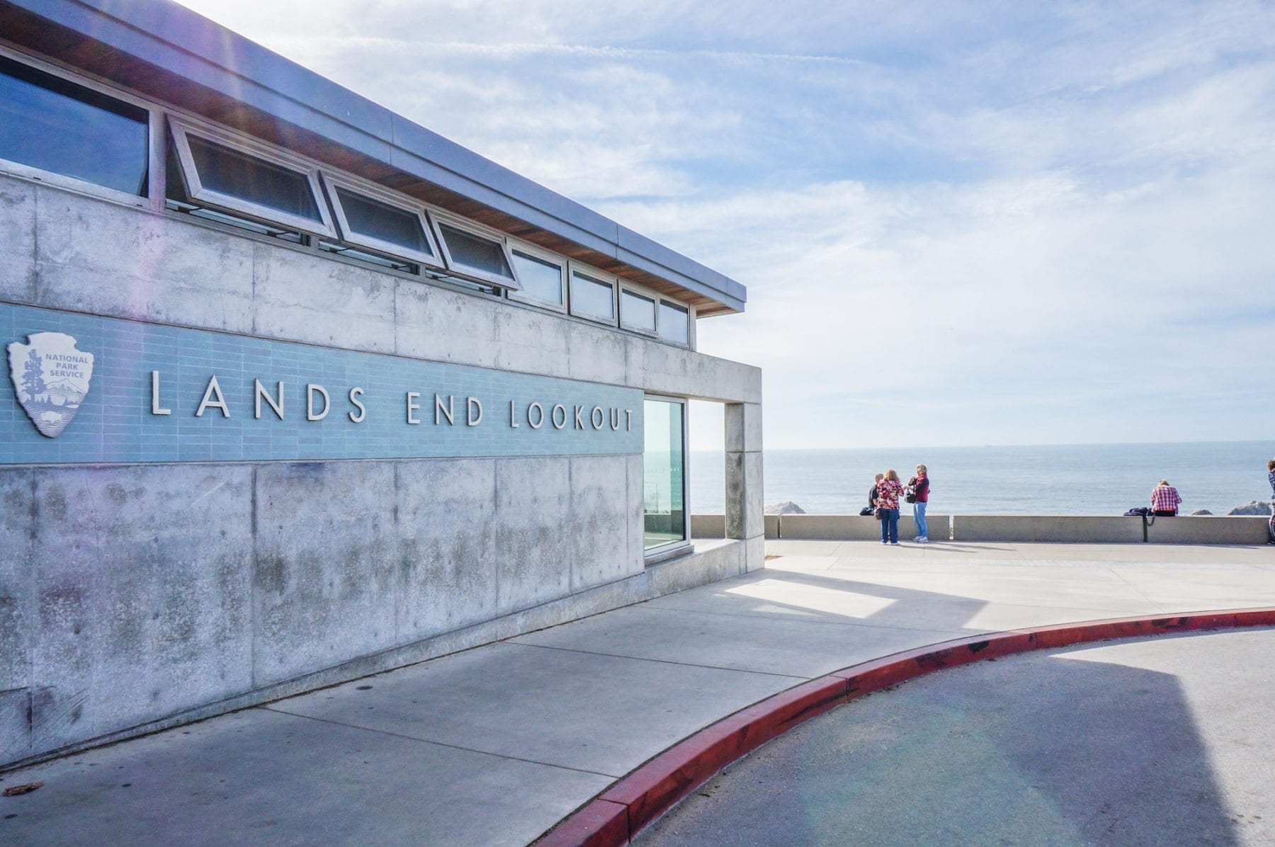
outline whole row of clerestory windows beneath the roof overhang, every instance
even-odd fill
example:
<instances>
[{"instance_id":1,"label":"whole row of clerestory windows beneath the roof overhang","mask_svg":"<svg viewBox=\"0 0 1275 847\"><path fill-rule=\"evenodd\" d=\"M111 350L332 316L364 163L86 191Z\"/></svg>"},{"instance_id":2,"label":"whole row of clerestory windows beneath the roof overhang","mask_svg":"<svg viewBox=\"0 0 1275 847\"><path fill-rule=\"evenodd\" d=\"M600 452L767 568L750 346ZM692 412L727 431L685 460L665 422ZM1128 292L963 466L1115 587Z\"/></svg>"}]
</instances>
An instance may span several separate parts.
<instances>
[{"instance_id":1,"label":"whole row of clerestory windows beneath the roof overhang","mask_svg":"<svg viewBox=\"0 0 1275 847\"><path fill-rule=\"evenodd\" d=\"M674 344L692 338L691 310L638 283L5 47L0 171L143 205L166 185L167 208L221 226Z\"/></svg>"}]
</instances>

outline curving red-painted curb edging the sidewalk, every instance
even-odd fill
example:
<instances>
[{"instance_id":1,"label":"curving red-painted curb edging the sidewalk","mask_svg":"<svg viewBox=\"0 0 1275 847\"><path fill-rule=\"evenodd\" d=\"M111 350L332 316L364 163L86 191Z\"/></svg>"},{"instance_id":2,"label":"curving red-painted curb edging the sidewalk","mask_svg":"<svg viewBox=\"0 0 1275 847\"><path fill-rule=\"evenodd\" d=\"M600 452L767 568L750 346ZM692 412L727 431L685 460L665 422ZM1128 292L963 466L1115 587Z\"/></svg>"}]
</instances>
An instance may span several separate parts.
<instances>
[{"instance_id":1,"label":"curving red-painted curb edging the sidewalk","mask_svg":"<svg viewBox=\"0 0 1275 847\"><path fill-rule=\"evenodd\" d=\"M627 844L714 773L803 721L899 682L984 658L1139 635L1275 626L1275 608L1193 612L1014 629L928 644L834 671L725 717L677 742L537 841L542 847Z\"/></svg>"}]
</instances>

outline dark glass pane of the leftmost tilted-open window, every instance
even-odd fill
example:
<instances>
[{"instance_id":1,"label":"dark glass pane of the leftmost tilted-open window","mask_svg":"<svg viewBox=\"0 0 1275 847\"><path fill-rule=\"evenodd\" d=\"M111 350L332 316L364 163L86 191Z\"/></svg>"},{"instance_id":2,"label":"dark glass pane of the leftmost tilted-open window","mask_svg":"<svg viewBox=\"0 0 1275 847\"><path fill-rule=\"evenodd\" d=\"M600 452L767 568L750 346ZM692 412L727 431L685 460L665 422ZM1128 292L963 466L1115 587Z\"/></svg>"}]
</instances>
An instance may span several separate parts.
<instances>
[{"instance_id":1,"label":"dark glass pane of the leftmost tilted-open window","mask_svg":"<svg viewBox=\"0 0 1275 847\"><path fill-rule=\"evenodd\" d=\"M316 223L323 221L307 175L198 135L187 135L203 189Z\"/></svg>"}]
</instances>

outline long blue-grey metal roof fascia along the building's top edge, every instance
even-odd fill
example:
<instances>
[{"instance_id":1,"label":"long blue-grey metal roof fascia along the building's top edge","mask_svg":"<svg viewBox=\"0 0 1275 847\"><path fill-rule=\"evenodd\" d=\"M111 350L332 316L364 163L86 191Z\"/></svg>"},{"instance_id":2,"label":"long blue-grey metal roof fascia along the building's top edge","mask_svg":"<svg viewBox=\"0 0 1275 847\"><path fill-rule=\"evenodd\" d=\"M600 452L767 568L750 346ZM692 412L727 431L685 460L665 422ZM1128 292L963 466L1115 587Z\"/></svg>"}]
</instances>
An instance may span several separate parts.
<instances>
[{"instance_id":1,"label":"long blue-grey metal roof fascia along the building's top edge","mask_svg":"<svg viewBox=\"0 0 1275 847\"><path fill-rule=\"evenodd\" d=\"M696 293L743 309L745 287L621 227L171 0L3 0L360 153ZM283 93L261 79L283 79ZM419 152L417 152L419 151ZM426 158L428 156L428 158ZM521 196L528 199L521 199Z\"/></svg>"}]
</instances>

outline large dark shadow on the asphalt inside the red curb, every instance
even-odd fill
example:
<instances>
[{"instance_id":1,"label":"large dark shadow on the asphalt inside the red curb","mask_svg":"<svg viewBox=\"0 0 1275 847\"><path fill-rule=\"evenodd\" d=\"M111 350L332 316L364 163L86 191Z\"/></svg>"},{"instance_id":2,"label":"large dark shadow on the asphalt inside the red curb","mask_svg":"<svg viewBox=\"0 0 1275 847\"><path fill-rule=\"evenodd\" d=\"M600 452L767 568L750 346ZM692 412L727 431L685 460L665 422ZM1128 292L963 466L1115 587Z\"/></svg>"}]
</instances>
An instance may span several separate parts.
<instances>
[{"instance_id":1,"label":"large dark shadow on the asphalt inside the red curb","mask_svg":"<svg viewBox=\"0 0 1275 847\"><path fill-rule=\"evenodd\" d=\"M1239 841L1177 676L1037 654L942 671L815 718L635 843Z\"/></svg>"}]
</instances>

